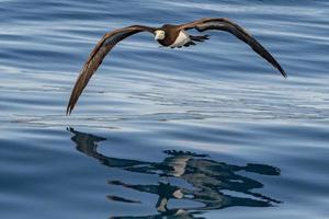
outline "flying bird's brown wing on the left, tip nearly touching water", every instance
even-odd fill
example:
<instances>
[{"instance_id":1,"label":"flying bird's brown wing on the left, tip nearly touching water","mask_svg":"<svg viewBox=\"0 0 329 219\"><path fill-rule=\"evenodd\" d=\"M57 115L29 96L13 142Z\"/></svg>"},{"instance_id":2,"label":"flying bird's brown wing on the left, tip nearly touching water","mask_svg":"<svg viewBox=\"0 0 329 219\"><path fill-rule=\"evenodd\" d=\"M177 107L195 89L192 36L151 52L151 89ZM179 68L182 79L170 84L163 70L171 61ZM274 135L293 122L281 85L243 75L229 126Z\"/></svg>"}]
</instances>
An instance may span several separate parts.
<instances>
[{"instance_id":1,"label":"flying bird's brown wing on the left, tip nearly touching water","mask_svg":"<svg viewBox=\"0 0 329 219\"><path fill-rule=\"evenodd\" d=\"M82 70L80 71L80 74L76 81L75 88L71 92L66 113L71 113L88 81L102 64L104 57L118 42L139 32L154 33L154 27L134 25L106 33L95 45L95 47L89 55L88 60L83 65Z\"/></svg>"}]
</instances>

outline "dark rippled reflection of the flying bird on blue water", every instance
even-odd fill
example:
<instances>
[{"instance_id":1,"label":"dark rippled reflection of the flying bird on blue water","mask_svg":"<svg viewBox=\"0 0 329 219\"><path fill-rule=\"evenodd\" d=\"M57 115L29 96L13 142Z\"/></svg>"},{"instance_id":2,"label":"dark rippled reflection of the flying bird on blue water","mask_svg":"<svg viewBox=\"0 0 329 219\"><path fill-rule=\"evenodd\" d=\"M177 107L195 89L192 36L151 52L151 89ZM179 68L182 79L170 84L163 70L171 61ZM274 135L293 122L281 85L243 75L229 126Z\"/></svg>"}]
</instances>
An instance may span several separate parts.
<instances>
[{"instance_id":1,"label":"dark rippled reflection of the flying bird on blue water","mask_svg":"<svg viewBox=\"0 0 329 219\"><path fill-rule=\"evenodd\" d=\"M243 166L227 164L208 159L204 154L188 151L164 151L167 158L161 162L144 162L138 160L111 158L97 151L98 142L106 140L91 134L77 131L68 128L73 134L72 141L77 149L89 157L98 159L102 164L110 168L118 168L128 172L154 174L159 177L156 184L129 184L110 181L109 184L131 188L137 192L154 194L158 196L155 204L157 214L144 217L115 217L115 218L202 218L203 211L222 209L232 206L245 207L269 207L280 204L261 193L252 192L254 188L263 187L263 184L251 178L251 174L280 175L280 170L264 164L247 164ZM245 172L245 173L243 173ZM179 178L186 185L174 185L169 178ZM120 196L109 195L112 201L138 204L143 200L132 200ZM170 199L192 200L197 207L169 208Z\"/></svg>"}]
</instances>

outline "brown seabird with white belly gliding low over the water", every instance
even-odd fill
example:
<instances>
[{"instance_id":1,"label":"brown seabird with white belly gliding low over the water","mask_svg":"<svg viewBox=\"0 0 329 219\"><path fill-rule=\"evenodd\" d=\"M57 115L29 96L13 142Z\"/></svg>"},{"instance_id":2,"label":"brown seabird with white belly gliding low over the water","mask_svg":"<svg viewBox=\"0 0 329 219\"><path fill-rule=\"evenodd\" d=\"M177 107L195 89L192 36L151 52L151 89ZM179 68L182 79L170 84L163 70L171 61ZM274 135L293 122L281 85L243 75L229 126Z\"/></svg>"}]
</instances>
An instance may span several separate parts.
<instances>
[{"instance_id":1,"label":"brown seabird with white belly gliding low over the water","mask_svg":"<svg viewBox=\"0 0 329 219\"><path fill-rule=\"evenodd\" d=\"M66 114L71 114L89 80L102 64L104 57L117 43L127 38L128 36L141 32L148 32L152 34L156 42L158 42L162 47L169 48L194 46L196 43L209 39L209 35L191 35L189 34L190 30L196 30L200 33L212 30L228 32L235 35L238 39L248 44L258 55L276 68L284 78L287 77L274 57L253 36L251 36L251 34L227 18L204 18L180 25L163 24L161 27L131 25L105 33L104 36L98 42L77 78L67 105Z\"/></svg>"}]
</instances>

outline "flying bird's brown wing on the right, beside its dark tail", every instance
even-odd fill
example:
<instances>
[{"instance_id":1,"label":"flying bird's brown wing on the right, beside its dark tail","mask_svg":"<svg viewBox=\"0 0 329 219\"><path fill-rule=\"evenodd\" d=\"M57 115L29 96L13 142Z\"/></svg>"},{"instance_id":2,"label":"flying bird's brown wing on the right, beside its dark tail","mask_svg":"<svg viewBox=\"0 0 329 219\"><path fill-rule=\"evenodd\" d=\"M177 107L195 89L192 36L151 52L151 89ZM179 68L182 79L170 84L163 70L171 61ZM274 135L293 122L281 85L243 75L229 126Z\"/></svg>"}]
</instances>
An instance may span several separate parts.
<instances>
[{"instance_id":1,"label":"flying bird's brown wing on the right, beside its dark tail","mask_svg":"<svg viewBox=\"0 0 329 219\"><path fill-rule=\"evenodd\" d=\"M229 32L246 44L248 44L257 54L266 59L273 67L275 67L282 73L284 78L286 78L286 73L279 65L279 62L273 58L273 56L260 43L258 43L258 41L256 41L256 38L253 38L245 28L242 28L241 26L231 22L228 19L201 19L191 23L182 24L179 26L179 28L196 28L198 32L204 32L208 30Z\"/></svg>"}]
</instances>

